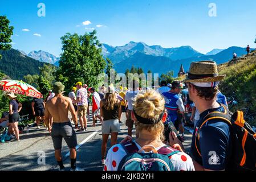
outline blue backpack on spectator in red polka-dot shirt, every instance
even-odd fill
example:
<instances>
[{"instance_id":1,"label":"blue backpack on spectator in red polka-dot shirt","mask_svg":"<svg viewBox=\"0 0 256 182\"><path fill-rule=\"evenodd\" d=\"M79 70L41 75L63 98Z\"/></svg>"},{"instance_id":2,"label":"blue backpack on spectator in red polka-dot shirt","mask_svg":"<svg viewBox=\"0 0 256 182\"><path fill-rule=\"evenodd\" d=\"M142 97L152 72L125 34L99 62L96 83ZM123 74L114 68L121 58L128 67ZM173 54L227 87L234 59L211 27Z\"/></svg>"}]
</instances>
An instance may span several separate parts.
<instances>
[{"instance_id":1,"label":"blue backpack on spectator in red polka-dot shirt","mask_svg":"<svg viewBox=\"0 0 256 182\"><path fill-rule=\"evenodd\" d=\"M170 146L164 146L158 151L152 145L137 148L134 142L121 144L127 155L121 160L117 171L174 171L170 158L177 154ZM153 151L153 153L141 153L141 151Z\"/></svg>"}]
</instances>

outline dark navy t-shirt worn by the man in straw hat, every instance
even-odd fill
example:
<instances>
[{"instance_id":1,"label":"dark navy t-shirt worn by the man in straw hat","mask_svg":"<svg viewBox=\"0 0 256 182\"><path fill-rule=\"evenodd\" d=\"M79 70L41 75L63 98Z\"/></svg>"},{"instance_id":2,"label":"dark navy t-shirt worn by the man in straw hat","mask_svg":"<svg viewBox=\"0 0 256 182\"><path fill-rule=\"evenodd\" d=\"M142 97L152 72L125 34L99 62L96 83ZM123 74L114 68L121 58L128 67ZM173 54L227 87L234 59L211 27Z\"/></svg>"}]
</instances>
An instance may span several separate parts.
<instances>
[{"instance_id":1,"label":"dark navy t-shirt worn by the man in straw hat","mask_svg":"<svg viewBox=\"0 0 256 182\"><path fill-rule=\"evenodd\" d=\"M223 170L227 168L227 163L231 156L231 128L219 119L211 119L200 130L200 148L201 156L197 152L195 137L198 128L204 122L207 114L213 111L224 113L225 109L220 106L215 109L209 109L200 114L200 120L197 122L196 129L193 133L190 156L206 169Z\"/></svg>"}]
</instances>

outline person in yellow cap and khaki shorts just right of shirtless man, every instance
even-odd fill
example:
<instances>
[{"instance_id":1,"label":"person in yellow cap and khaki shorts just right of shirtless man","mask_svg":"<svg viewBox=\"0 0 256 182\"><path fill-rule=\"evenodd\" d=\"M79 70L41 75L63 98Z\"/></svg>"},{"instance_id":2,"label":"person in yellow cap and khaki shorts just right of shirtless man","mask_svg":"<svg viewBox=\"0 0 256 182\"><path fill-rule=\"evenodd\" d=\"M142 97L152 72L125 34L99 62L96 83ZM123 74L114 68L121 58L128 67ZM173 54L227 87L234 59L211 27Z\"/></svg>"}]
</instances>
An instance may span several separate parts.
<instances>
[{"instance_id":1,"label":"person in yellow cap and khaki shorts just right of shirtless man","mask_svg":"<svg viewBox=\"0 0 256 182\"><path fill-rule=\"evenodd\" d=\"M82 85L83 84L80 81L76 83L76 88L78 89L78 91L76 92L76 103L78 103L78 117L80 121L80 128L78 131L87 131L87 90L86 88L83 88Z\"/></svg>"}]
</instances>

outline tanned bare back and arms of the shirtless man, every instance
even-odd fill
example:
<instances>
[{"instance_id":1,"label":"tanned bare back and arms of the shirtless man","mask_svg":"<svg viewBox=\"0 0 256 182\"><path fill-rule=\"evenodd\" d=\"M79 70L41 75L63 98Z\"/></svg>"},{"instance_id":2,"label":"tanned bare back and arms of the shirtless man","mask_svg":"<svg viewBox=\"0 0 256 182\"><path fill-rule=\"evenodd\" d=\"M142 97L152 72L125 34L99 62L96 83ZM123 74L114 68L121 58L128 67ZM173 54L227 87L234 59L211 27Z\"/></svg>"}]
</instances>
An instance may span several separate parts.
<instances>
[{"instance_id":1,"label":"tanned bare back and arms of the shirtless man","mask_svg":"<svg viewBox=\"0 0 256 182\"><path fill-rule=\"evenodd\" d=\"M68 111L71 112L72 118L77 125L78 118L75 113L75 108L72 105L72 100L68 97L64 97L62 93L59 93L54 98L46 102L46 121L47 118L51 115L53 117L54 123L68 122L70 121L70 118L68 118Z\"/></svg>"}]
</instances>

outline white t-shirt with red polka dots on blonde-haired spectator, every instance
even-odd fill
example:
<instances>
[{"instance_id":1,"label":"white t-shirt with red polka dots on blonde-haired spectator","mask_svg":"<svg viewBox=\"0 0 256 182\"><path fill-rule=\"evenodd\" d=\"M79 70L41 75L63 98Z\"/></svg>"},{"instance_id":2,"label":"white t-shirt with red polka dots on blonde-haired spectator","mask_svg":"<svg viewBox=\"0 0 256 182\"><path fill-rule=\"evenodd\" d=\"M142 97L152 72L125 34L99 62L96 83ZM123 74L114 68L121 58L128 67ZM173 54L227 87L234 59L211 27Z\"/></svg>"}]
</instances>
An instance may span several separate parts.
<instances>
[{"instance_id":1,"label":"white t-shirt with red polka dots on blonde-haired spectator","mask_svg":"<svg viewBox=\"0 0 256 182\"><path fill-rule=\"evenodd\" d=\"M141 146L139 146L139 144L137 144L136 142L135 144L140 150ZM161 147L164 146L165 145L157 147L156 150L159 150ZM121 144L116 144L115 146L112 146L108 151L103 170L117 171L117 168L125 155L127 155L127 153L125 152ZM174 171L194 171L194 164L192 162L192 159L184 152L178 152L177 154L173 154L172 158L170 158L170 161L173 164Z\"/></svg>"}]
</instances>

